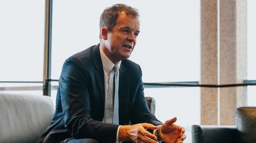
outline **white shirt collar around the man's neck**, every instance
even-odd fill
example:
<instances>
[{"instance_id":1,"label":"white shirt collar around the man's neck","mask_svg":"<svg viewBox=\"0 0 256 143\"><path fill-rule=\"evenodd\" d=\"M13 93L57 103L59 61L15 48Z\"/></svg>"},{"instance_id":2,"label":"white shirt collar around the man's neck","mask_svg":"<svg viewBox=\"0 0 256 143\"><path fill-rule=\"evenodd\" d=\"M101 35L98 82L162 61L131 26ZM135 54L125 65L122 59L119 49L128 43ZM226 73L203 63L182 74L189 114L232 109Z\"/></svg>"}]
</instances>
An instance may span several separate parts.
<instances>
[{"instance_id":1,"label":"white shirt collar around the man's neck","mask_svg":"<svg viewBox=\"0 0 256 143\"><path fill-rule=\"evenodd\" d=\"M101 45L99 45L99 51L100 51L100 57L101 57L103 68L107 73L109 73L113 69L115 64L113 64L112 61L108 58L108 56L106 56L106 54L103 52ZM118 69L120 68L120 65L121 65L121 61L117 63Z\"/></svg>"}]
</instances>

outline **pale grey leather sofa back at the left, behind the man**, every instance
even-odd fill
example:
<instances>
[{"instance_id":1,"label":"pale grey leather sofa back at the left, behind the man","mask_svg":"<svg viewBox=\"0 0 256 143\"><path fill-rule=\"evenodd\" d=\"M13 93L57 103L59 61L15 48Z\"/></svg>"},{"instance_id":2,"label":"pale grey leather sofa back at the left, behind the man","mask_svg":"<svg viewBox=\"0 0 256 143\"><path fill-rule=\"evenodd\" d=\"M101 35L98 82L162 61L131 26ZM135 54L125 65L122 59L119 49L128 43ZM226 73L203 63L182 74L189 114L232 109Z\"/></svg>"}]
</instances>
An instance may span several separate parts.
<instances>
[{"instance_id":1,"label":"pale grey leather sofa back at the left, behind the man","mask_svg":"<svg viewBox=\"0 0 256 143\"><path fill-rule=\"evenodd\" d=\"M53 117L50 97L0 93L0 143L34 143Z\"/></svg>"}]
</instances>

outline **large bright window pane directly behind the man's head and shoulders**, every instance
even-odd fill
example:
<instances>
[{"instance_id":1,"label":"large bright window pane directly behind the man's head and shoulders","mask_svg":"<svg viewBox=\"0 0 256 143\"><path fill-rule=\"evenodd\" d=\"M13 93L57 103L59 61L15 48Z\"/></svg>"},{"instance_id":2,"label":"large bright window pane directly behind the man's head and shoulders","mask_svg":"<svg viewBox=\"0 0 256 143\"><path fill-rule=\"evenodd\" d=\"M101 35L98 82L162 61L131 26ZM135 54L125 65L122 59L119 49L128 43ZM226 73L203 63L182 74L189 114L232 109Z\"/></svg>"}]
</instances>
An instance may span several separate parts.
<instances>
[{"instance_id":1,"label":"large bright window pane directly behind the man's head and shoulders","mask_svg":"<svg viewBox=\"0 0 256 143\"><path fill-rule=\"evenodd\" d=\"M53 1L53 79L59 78L62 64L69 56L99 43L102 10L123 2ZM131 60L141 66L144 82L198 81L200 1L147 2L147 5L129 1L128 5L140 12L141 33Z\"/></svg>"}]
</instances>

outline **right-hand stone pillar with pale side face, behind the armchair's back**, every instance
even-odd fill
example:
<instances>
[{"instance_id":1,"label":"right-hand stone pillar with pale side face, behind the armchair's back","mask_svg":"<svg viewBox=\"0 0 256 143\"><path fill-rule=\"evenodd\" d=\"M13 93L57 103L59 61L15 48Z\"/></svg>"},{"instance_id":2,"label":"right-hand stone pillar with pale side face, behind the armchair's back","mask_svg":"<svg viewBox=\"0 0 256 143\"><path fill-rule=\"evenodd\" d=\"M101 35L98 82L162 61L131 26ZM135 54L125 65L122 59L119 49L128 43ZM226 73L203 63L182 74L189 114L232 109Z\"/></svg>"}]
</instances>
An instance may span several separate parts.
<instances>
[{"instance_id":1,"label":"right-hand stone pillar with pale side face, behind the armchair's back","mask_svg":"<svg viewBox=\"0 0 256 143\"><path fill-rule=\"evenodd\" d=\"M220 1L220 84L247 79L247 1ZM247 87L220 89L220 125L235 124L235 110L247 105Z\"/></svg>"}]
</instances>

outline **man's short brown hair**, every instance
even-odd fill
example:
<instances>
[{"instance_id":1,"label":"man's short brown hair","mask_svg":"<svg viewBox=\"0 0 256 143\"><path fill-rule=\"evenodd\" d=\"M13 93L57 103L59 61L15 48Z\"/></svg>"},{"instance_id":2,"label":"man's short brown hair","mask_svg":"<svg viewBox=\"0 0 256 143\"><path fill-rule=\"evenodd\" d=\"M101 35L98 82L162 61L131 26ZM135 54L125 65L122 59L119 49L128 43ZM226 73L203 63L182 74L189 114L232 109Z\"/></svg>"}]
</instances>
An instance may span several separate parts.
<instances>
[{"instance_id":1,"label":"man's short brown hair","mask_svg":"<svg viewBox=\"0 0 256 143\"><path fill-rule=\"evenodd\" d=\"M99 21L100 31L102 27L106 27L108 28L108 30L112 31L112 28L116 25L116 20L120 12L125 12L127 15L139 18L138 10L136 10L135 8L132 8L124 4L115 4L112 7L106 8L102 12ZM99 34L99 38L102 38L101 32Z\"/></svg>"}]
</instances>

